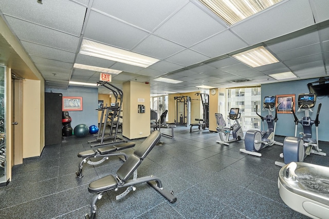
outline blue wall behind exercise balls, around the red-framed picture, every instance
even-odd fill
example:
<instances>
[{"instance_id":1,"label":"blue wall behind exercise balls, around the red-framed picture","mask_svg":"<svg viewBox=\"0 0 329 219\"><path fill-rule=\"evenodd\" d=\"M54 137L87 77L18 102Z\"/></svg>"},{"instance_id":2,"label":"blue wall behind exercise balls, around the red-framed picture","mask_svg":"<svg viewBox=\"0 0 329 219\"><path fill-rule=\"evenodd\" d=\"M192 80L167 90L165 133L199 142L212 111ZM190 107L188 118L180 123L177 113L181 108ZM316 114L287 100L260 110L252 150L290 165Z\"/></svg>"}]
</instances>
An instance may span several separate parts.
<instances>
[{"instance_id":1,"label":"blue wall behind exercise balls, around the red-framed picture","mask_svg":"<svg viewBox=\"0 0 329 219\"><path fill-rule=\"evenodd\" d=\"M74 129L76 125L86 124L98 125L98 88L74 87L69 86L68 89L45 89L45 92L62 93L63 96L82 96L82 111L69 111L72 118L71 127Z\"/></svg>"}]
</instances>

